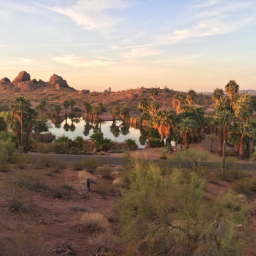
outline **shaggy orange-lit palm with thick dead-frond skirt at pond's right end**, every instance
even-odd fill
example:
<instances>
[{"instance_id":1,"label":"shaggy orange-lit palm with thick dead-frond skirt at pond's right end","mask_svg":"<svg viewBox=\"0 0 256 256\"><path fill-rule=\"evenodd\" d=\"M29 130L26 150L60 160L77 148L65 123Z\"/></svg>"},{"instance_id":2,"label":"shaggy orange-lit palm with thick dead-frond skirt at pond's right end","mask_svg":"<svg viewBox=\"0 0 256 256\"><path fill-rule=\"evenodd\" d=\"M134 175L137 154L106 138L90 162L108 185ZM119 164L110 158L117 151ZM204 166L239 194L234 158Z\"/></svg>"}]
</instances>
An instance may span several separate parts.
<instances>
[{"instance_id":1,"label":"shaggy orange-lit palm with thick dead-frond skirt at pond's right end","mask_svg":"<svg viewBox=\"0 0 256 256\"><path fill-rule=\"evenodd\" d=\"M159 110L155 116L151 119L152 127L158 130L161 136L161 142L163 142L164 137L166 142L171 141L171 135L176 124L176 114L173 110L167 108L164 110Z\"/></svg>"}]
</instances>

